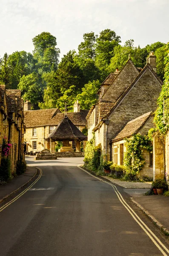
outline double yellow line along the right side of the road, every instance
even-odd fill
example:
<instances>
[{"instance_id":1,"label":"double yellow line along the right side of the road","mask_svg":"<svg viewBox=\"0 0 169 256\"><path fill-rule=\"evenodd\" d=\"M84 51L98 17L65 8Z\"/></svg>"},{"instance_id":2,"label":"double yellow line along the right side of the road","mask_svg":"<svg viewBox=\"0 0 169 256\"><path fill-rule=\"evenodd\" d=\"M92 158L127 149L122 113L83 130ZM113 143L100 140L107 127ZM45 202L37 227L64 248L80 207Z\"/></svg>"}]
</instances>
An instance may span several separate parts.
<instances>
[{"instance_id":1,"label":"double yellow line along the right side of the road","mask_svg":"<svg viewBox=\"0 0 169 256\"><path fill-rule=\"evenodd\" d=\"M121 204L123 204L123 206L128 210L128 212L130 213L130 215L132 215L132 218L134 218L134 220L137 222L137 224L144 230L144 232L147 234L147 236L149 236L149 238L152 240L152 242L156 245L156 247L158 247L158 249L160 250L160 252L163 254L163 256L167 256L167 254L165 253L165 251L169 254L169 250L166 248L166 246L160 241L160 239L158 239L157 236L155 236L155 234L152 232L152 230L149 229L149 227L147 227L147 225L140 219L140 217L135 213L135 211L126 203L126 201L124 200L123 196L120 194L120 192L118 191L117 187L107 181L104 181L94 175L92 175L90 172L87 172L85 169L81 168L80 166L77 166L78 168L82 169L84 172L88 173L89 175L91 175L92 177L97 178L100 181L103 181L104 183L107 183L108 185L112 186L119 201L121 202ZM154 237L154 238L153 238ZM156 239L156 241L155 241ZM159 244L160 245L159 245ZM163 250L161 247L163 247Z\"/></svg>"}]
</instances>

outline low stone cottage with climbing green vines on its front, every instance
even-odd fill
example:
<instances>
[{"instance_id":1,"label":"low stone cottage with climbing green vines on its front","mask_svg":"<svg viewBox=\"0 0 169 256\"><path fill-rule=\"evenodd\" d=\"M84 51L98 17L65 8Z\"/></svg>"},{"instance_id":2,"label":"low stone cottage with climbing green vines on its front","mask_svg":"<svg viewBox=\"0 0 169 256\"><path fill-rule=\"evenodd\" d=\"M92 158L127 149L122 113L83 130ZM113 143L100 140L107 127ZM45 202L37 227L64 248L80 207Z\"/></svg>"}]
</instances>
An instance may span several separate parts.
<instances>
[{"instance_id":1,"label":"low stone cottage with climbing green vines on its front","mask_svg":"<svg viewBox=\"0 0 169 256\"><path fill-rule=\"evenodd\" d=\"M126 151L125 138L130 138L134 134L146 135L153 125L152 112L145 113L136 119L129 121L125 127L112 140L113 163L123 165L124 153ZM143 149L143 157L145 166L140 171L138 176L153 177L153 154L146 149Z\"/></svg>"}]
</instances>

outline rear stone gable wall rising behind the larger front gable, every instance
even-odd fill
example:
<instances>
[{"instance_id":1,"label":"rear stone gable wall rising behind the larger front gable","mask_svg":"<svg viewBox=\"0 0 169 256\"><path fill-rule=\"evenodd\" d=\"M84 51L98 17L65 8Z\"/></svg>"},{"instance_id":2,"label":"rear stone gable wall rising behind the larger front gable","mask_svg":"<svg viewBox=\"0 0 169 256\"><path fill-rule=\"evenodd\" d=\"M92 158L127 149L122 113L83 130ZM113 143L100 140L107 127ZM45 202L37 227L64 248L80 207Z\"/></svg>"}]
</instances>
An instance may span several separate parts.
<instances>
[{"instance_id":1,"label":"rear stone gable wall rising behind the larger front gable","mask_svg":"<svg viewBox=\"0 0 169 256\"><path fill-rule=\"evenodd\" d=\"M134 66L131 60L123 67L118 74L115 81L107 89L106 93L102 96L103 100L117 101L120 95L126 90L126 88L132 84L135 78L138 76L139 71Z\"/></svg>"}]
</instances>

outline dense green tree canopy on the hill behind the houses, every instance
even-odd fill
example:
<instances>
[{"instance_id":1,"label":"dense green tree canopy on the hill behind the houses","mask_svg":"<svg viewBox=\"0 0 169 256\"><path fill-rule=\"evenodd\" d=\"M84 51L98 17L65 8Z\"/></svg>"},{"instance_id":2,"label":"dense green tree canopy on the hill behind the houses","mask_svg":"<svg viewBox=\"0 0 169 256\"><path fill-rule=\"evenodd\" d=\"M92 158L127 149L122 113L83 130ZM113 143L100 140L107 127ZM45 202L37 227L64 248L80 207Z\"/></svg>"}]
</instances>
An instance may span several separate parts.
<instances>
[{"instance_id":1,"label":"dense green tree canopy on the hill behind the houses","mask_svg":"<svg viewBox=\"0 0 169 256\"><path fill-rule=\"evenodd\" d=\"M32 53L16 51L0 58L0 83L8 89L20 89L23 99L34 108L64 109L70 111L79 100L81 108L89 109L97 101L96 93L103 80L126 64L129 54L136 67L143 68L149 52L157 56L157 74L163 80L166 44L155 42L141 48L134 47L134 40L121 44L114 30L105 29L83 34L77 52L69 50L59 62L60 49L57 39L49 32L42 32L32 39Z\"/></svg>"}]
</instances>

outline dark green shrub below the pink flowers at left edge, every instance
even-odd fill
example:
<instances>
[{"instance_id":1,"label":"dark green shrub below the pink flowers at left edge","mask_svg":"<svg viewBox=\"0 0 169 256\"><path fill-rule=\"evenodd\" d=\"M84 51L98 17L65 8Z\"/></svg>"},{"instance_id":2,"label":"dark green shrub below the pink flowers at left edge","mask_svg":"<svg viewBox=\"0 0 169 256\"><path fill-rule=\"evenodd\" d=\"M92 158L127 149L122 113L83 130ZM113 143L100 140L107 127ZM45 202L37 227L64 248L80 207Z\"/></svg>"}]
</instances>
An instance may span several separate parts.
<instances>
[{"instance_id":1,"label":"dark green shrub below the pink flowers at left edge","mask_svg":"<svg viewBox=\"0 0 169 256\"><path fill-rule=\"evenodd\" d=\"M11 161L8 157L2 157L0 163L0 183L11 179Z\"/></svg>"}]
</instances>

